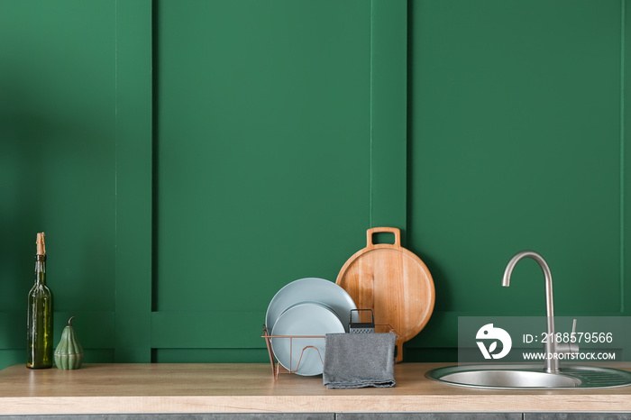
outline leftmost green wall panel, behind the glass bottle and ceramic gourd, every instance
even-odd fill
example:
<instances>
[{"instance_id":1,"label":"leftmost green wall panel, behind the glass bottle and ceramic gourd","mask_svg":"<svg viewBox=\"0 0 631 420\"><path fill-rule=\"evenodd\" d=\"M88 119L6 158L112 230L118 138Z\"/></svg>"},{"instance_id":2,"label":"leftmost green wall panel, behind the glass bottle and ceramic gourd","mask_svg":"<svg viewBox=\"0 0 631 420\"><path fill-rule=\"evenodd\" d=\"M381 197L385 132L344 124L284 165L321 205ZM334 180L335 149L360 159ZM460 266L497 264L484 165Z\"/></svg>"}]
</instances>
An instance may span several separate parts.
<instances>
[{"instance_id":1,"label":"leftmost green wall panel, behind the glass bottle and ceramic gourd","mask_svg":"<svg viewBox=\"0 0 631 420\"><path fill-rule=\"evenodd\" d=\"M24 361L35 233L55 337L69 315L87 358L114 352L113 1L0 4L0 366Z\"/></svg>"}]
</instances>

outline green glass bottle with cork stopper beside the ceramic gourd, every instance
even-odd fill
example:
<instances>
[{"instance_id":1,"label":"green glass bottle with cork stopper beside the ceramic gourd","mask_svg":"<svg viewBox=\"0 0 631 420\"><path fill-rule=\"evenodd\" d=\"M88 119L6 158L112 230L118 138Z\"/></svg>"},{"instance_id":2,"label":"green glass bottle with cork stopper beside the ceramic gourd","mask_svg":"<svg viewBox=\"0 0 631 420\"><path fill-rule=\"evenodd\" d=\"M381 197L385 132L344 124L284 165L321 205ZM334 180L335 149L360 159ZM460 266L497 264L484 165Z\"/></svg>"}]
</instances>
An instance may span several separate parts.
<instances>
[{"instance_id":1,"label":"green glass bottle with cork stopper beside the ceramic gourd","mask_svg":"<svg viewBox=\"0 0 631 420\"><path fill-rule=\"evenodd\" d=\"M29 292L26 367L52 367L52 295L46 287L46 246L44 233L37 233L35 285Z\"/></svg>"}]
</instances>

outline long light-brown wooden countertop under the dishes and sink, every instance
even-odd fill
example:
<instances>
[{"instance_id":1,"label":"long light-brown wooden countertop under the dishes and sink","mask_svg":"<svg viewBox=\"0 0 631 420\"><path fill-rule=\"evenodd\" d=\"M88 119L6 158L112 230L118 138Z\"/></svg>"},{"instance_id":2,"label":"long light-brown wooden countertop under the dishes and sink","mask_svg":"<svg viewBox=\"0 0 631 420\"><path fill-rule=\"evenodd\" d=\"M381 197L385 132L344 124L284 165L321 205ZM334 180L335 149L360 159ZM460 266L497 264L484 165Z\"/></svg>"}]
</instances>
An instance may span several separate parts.
<instances>
[{"instance_id":1,"label":"long light-brown wooden countertop under the dishes and sink","mask_svg":"<svg viewBox=\"0 0 631 420\"><path fill-rule=\"evenodd\" d=\"M0 371L0 414L631 411L631 387L485 390L425 379L445 365L397 364L395 388L361 389L326 389L322 377L293 374L275 381L269 364L12 366Z\"/></svg>"}]
</instances>

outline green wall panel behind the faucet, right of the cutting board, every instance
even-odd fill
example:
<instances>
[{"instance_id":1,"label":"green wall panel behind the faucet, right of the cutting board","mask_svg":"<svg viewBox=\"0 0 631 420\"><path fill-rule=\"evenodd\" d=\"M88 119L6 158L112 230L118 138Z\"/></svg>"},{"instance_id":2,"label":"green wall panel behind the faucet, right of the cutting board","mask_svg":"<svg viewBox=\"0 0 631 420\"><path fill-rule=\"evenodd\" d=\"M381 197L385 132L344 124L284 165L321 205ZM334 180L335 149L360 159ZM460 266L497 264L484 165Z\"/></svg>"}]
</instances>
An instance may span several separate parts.
<instances>
[{"instance_id":1,"label":"green wall panel behind the faucet, right of the cutting board","mask_svg":"<svg viewBox=\"0 0 631 420\"><path fill-rule=\"evenodd\" d=\"M624 308L621 3L410 2L408 245L436 305L410 346L453 345L457 315ZM628 173L628 172L627 172Z\"/></svg>"}]
</instances>

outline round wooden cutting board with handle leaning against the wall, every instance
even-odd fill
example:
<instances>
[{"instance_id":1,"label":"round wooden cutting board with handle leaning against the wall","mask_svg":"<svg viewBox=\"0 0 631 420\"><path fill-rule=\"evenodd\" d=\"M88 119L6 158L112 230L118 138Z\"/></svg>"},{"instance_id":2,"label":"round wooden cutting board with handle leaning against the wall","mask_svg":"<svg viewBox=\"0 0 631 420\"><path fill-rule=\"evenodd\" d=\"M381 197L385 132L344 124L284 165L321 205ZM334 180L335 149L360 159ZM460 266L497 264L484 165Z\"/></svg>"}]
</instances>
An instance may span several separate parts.
<instances>
[{"instance_id":1,"label":"round wooden cutting board with handle leaning against the wall","mask_svg":"<svg viewBox=\"0 0 631 420\"><path fill-rule=\"evenodd\" d=\"M375 233L394 233L394 244L373 243ZM367 245L346 261L335 283L351 295L360 309L372 309L375 324L397 332L397 361L403 342L419 333L434 310L434 280L425 263L401 246L396 227L375 227Z\"/></svg>"}]
</instances>

